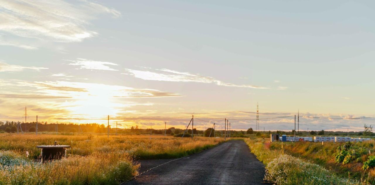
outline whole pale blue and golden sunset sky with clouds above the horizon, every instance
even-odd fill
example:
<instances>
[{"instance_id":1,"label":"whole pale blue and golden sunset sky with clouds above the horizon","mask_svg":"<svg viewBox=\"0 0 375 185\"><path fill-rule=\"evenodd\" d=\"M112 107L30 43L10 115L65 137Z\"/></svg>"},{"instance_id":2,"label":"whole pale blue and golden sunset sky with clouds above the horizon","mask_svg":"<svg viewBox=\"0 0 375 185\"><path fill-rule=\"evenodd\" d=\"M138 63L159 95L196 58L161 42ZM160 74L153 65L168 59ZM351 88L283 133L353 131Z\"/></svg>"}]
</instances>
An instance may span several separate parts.
<instances>
[{"instance_id":1,"label":"whole pale blue and golden sunset sky with clouds above the horizon","mask_svg":"<svg viewBox=\"0 0 375 185\"><path fill-rule=\"evenodd\" d=\"M0 2L0 120L362 131L373 1ZM286 117L292 116L292 117ZM264 119L284 117L277 119ZM316 119L324 117L329 119ZM333 119L342 118L342 119ZM297 117L298 119L298 117ZM297 121L298 122L298 121Z\"/></svg>"}]
</instances>

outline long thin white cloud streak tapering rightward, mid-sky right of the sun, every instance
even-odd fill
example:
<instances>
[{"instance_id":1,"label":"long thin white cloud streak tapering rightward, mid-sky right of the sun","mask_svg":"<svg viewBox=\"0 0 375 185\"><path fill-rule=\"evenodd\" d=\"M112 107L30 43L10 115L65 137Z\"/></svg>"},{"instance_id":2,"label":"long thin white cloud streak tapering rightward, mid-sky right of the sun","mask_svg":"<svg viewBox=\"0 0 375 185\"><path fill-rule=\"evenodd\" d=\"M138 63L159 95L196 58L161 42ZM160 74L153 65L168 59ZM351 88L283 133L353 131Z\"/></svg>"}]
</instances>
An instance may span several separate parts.
<instances>
[{"instance_id":1,"label":"long thin white cloud streak tapering rightward, mid-sky right of the sun","mask_svg":"<svg viewBox=\"0 0 375 185\"><path fill-rule=\"evenodd\" d=\"M173 71L170 69L156 69L156 70L158 72L126 69L126 71L134 75L134 77L141 78L143 80L213 83L218 86L227 86L227 87L247 87L247 88L254 88L254 89L269 89L268 87L261 87L261 86L254 86L254 85L237 85L237 84L232 84L232 83L225 83L223 81L216 80L212 77L205 77L199 74L190 74L188 72L178 72L178 71Z\"/></svg>"}]
</instances>

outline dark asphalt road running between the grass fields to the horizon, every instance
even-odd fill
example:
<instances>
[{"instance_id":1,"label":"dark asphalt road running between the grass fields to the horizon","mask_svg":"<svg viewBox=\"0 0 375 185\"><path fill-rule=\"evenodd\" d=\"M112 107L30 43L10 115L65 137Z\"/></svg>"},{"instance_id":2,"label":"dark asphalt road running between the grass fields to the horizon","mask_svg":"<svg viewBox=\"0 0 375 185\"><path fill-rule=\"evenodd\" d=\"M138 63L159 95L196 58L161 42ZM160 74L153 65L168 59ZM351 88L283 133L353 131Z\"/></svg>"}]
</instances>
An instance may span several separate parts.
<instances>
[{"instance_id":1,"label":"dark asphalt road running between the grass fields to the horizon","mask_svg":"<svg viewBox=\"0 0 375 185\"><path fill-rule=\"evenodd\" d=\"M139 160L140 173L163 165L125 184L268 184L263 181L263 163L240 140L228 141L185 158L171 160Z\"/></svg>"}]
</instances>

